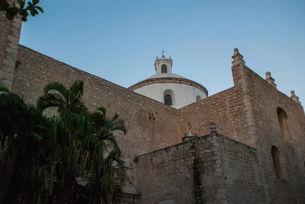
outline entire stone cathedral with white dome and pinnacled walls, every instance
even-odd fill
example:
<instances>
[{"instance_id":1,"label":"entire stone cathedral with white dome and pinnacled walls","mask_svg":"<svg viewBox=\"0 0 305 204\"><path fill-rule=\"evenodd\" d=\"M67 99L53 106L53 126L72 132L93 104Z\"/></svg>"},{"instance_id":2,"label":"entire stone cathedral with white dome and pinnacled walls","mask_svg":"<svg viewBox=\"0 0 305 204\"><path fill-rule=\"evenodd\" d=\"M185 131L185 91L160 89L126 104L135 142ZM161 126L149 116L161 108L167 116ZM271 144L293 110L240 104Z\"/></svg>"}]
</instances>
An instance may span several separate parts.
<instances>
[{"instance_id":1,"label":"entire stone cathedral with white dome and pinnacled walls","mask_svg":"<svg viewBox=\"0 0 305 204\"><path fill-rule=\"evenodd\" d=\"M228 53L234 85L215 95L172 73L164 55L156 75L126 89L20 45L21 25L0 16L0 82L35 103L46 83L81 79L89 109L118 113L128 129L117 135L128 173L124 204L305 203L297 93L278 91L271 73L249 69L237 48Z\"/></svg>"}]
</instances>

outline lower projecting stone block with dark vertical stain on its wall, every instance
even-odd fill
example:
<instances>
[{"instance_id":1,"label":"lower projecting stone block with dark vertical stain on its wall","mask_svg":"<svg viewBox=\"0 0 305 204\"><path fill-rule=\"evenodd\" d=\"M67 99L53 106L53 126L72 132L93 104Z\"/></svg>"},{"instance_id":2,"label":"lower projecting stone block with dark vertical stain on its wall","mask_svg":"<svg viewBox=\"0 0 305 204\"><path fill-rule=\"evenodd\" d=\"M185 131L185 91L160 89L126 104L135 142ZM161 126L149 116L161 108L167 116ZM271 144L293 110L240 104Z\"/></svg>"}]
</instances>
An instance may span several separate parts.
<instances>
[{"instance_id":1,"label":"lower projecting stone block with dark vertical stain on its wall","mask_svg":"<svg viewBox=\"0 0 305 204\"><path fill-rule=\"evenodd\" d=\"M137 160L140 203L265 203L256 150L212 132Z\"/></svg>"}]
</instances>

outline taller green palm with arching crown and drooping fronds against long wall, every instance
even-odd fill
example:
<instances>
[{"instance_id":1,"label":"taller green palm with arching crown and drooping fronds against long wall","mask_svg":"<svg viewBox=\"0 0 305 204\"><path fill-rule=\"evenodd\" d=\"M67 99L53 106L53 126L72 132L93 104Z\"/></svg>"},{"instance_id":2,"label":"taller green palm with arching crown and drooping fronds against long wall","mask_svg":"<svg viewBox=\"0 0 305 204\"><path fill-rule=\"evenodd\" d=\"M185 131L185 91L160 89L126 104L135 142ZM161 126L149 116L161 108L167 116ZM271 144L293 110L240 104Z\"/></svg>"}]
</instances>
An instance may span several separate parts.
<instances>
[{"instance_id":1,"label":"taller green palm with arching crown and drooping fronds against long wall","mask_svg":"<svg viewBox=\"0 0 305 204\"><path fill-rule=\"evenodd\" d=\"M56 140L52 195L58 203L117 203L126 172L114 132L125 134L125 123L117 114L107 118L104 107L90 113L83 86L79 80L69 89L59 82L48 83L37 102L42 110L58 112L52 118Z\"/></svg>"}]
</instances>

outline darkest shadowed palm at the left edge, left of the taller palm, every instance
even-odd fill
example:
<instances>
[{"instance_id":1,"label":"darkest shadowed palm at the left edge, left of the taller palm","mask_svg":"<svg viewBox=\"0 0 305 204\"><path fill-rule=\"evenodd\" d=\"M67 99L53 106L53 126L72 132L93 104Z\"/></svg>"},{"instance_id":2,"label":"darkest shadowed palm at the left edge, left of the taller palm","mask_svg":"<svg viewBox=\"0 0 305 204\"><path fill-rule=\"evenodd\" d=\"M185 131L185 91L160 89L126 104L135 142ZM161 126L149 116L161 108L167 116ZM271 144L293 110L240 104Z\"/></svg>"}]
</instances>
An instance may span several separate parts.
<instances>
[{"instance_id":1,"label":"darkest shadowed palm at the left edge, left of the taller palm","mask_svg":"<svg viewBox=\"0 0 305 204\"><path fill-rule=\"evenodd\" d=\"M49 123L42 111L0 84L0 203L15 200L37 185L26 176L47 139ZM33 184L33 185L32 185Z\"/></svg>"}]
</instances>

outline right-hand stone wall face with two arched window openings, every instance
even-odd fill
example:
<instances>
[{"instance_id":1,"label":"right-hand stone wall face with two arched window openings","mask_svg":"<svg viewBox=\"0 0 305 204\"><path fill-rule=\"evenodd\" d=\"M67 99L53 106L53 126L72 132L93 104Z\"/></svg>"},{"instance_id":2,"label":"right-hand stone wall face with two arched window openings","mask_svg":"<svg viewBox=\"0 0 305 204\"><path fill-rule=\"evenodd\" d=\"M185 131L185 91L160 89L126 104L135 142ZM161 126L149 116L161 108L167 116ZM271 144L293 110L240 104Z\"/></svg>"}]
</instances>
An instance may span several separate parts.
<instances>
[{"instance_id":1,"label":"right-hand stone wall face with two arched window openings","mask_svg":"<svg viewBox=\"0 0 305 204\"><path fill-rule=\"evenodd\" d=\"M303 107L277 90L249 68L244 68L249 86L257 138L260 168L267 203L305 203L305 116ZM288 116L290 140L281 136L277 108ZM275 145L283 159L285 177L277 179L271 147Z\"/></svg>"}]
</instances>

